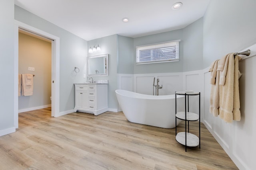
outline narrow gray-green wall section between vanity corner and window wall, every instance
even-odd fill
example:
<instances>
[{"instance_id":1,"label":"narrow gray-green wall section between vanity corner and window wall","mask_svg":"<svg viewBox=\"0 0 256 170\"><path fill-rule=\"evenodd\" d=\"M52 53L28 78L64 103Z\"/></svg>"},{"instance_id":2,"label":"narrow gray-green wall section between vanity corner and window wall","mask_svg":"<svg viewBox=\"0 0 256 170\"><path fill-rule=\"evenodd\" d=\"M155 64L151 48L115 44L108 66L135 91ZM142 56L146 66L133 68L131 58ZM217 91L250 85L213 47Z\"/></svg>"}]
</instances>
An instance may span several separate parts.
<instances>
[{"instance_id":1,"label":"narrow gray-green wall section between vanity corner and window wall","mask_svg":"<svg viewBox=\"0 0 256 170\"><path fill-rule=\"evenodd\" d=\"M133 38L118 35L117 73L133 74L134 59Z\"/></svg>"}]
</instances>

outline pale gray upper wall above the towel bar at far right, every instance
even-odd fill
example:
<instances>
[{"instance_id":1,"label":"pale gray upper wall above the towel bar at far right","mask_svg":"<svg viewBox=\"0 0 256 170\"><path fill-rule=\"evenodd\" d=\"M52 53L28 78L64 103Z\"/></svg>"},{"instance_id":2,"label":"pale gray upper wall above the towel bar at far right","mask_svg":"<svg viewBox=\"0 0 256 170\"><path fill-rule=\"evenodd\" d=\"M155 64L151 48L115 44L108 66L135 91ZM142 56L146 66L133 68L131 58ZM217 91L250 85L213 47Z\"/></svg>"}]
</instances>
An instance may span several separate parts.
<instances>
[{"instance_id":1,"label":"pale gray upper wall above the towel bar at far right","mask_svg":"<svg viewBox=\"0 0 256 170\"><path fill-rule=\"evenodd\" d=\"M210 1L204 15L204 68L256 43L255 6L255 0Z\"/></svg>"}]
</instances>

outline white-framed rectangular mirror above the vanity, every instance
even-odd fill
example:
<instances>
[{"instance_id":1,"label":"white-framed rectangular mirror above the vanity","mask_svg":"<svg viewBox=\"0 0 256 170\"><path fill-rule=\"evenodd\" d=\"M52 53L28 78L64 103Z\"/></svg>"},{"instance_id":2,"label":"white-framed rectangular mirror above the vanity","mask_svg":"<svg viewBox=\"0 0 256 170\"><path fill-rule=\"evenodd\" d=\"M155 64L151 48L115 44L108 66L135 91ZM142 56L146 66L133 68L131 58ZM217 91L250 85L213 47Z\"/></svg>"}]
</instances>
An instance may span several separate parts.
<instances>
[{"instance_id":1,"label":"white-framed rectangular mirror above the vanity","mask_svg":"<svg viewBox=\"0 0 256 170\"><path fill-rule=\"evenodd\" d=\"M87 76L108 76L108 54L87 57Z\"/></svg>"}]
</instances>

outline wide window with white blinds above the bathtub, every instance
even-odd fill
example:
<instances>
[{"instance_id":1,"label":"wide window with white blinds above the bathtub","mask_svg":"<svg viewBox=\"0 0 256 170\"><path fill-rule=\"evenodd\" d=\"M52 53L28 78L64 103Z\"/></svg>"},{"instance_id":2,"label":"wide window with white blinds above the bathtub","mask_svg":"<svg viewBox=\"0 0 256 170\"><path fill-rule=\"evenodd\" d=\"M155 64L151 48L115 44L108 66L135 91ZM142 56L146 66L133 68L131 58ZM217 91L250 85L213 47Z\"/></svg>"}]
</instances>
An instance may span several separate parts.
<instances>
[{"instance_id":1,"label":"wide window with white blinds above the bathtub","mask_svg":"<svg viewBox=\"0 0 256 170\"><path fill-rule=\"evenodd\" d=\"M179 61L180 40L136 47L136 64Z\"/></svg>"}]
</instances>

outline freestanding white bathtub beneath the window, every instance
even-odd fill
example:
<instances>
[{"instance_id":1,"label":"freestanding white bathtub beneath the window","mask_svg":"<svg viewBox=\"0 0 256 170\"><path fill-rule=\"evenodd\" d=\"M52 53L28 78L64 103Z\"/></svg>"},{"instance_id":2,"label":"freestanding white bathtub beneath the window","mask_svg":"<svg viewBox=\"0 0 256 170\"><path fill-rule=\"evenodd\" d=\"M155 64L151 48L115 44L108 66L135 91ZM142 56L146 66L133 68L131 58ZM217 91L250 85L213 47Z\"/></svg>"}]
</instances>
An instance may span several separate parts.
<instances>
[{"instance_id":1,"label":"freestanding white bathtub beneath the window","mask_svg":"<svg viewBox=\"0 0 256 170\"><path fill-rule=\"evenodd\" d=\"M128 121L162 128L175 127L175 94L153 96L116 90L116 97ZM177 111L183 111L183 101L184 96L177 96ZM177 125L180 121L177 119Z\"/></svg>"}]
</instances>

